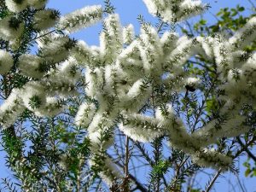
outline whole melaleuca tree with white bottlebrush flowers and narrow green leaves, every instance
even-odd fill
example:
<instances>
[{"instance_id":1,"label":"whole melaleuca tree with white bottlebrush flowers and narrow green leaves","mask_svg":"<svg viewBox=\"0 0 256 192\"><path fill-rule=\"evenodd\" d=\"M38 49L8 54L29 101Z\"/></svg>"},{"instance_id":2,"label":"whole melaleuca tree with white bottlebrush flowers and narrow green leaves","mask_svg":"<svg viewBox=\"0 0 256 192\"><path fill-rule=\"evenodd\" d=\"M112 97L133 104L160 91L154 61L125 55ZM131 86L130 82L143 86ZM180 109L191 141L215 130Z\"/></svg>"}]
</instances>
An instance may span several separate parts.
<instances>
[{"instance_id":1,"label":"whole melaleuca tree with white bottlebrush flowers and narrow green leaves","mask_svg":"<svg viewBox=\"0 0 256 192\"><path fill-rule=\"evenodd\" d=\"M139 16L135 34L109 1L64 16L45 3L1 3L2 145L15 176L4 189L181 191L212 167L209 191L236 171L255 142L254 17L181 34L208 5L144 0L160 22ZM99 46L69 38L100 20ZM132 174L140 160L147 183Z\"/></svg>"}]
</instances>

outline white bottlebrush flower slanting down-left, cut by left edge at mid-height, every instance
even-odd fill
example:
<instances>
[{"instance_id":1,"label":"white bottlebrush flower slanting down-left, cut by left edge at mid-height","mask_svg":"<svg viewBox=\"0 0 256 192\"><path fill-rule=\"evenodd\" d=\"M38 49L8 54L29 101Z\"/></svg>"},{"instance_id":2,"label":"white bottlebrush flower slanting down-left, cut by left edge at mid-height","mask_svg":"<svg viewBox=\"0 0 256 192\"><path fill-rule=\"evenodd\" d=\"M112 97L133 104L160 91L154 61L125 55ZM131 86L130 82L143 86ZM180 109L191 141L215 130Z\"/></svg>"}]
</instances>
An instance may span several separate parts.
<instances>
[{"instance_id":1,"label":"white bottlebrush flower slanting down-left, cut by left edge at mid-height","mask_svg":"<svg viewBox=\"0 0 256 192\"><path fill-rule=\"evenodd\" d=\"M20 90L14 89L0 106L0 125L3 129L13 125L20 113L25 110L20 96Z\"/></svg>"}]
</instances>

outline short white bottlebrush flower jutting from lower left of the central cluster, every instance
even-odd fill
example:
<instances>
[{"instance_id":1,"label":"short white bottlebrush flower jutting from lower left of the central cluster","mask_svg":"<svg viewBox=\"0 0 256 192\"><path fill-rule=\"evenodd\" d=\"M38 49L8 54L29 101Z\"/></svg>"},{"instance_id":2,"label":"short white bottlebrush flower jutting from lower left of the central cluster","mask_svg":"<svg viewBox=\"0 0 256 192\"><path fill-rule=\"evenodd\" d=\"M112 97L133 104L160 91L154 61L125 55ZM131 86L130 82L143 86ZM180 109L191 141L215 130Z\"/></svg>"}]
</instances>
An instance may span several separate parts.
<instances>
[{"instance_id":1,"label":"short white bottlebrush flower jutting from lower left of the central cluster","mask_svg":"<svg viewBox=\"0 0 256 192\"><path fill-rule=\"evenodd\" d=\"M88 126L93 116L96 113L96 105L95 103L84 102L79 107L79 111L76 114L74 122L78 126Z\"/></svg>"}]
</instances>

